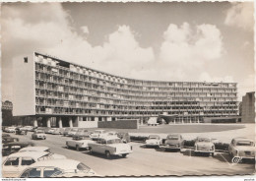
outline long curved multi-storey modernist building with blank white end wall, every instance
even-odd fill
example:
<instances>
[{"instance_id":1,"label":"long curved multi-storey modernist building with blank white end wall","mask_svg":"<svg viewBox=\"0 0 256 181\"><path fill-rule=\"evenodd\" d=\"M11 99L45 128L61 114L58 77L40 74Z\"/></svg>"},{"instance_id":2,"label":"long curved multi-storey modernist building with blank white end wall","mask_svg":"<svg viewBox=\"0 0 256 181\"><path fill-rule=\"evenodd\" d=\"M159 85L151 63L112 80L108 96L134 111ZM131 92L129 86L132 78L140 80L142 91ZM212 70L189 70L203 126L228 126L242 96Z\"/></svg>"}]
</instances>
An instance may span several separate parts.
<instances>
[{"instance_id":1,"label":"long curved multi-storey modernist building with blank white end wall","mask_svg":"<svg viewBox=\"0 0 256 181\"><path fill-rule=\"evenodd\" d=\"M14 75L14 115L33 116L35 125L90 127L159 115L198 123L238 114L236 83L128 79L36 52L16 62Z\"/></svg>"}]
</instances>

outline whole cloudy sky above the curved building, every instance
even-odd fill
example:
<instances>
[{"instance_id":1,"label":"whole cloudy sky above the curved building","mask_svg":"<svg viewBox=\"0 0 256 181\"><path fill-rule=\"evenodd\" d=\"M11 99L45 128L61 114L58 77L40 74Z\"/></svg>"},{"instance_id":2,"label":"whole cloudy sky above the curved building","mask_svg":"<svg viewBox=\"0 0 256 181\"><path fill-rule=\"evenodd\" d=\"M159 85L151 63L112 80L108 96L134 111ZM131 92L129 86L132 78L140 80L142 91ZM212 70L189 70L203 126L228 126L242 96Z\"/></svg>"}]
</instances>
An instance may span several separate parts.
<instances>
[{"instance_id":1,"label":"whole cloudy sky above the curved building","mask_svg":"<svg viewBox=\"0 0 256 181\"><path fill-rule=\"evenodd\" d=\"M253 3L2 4L2 99L33 51L118 76L254 91Z\"/></svg>"}]
</instances>

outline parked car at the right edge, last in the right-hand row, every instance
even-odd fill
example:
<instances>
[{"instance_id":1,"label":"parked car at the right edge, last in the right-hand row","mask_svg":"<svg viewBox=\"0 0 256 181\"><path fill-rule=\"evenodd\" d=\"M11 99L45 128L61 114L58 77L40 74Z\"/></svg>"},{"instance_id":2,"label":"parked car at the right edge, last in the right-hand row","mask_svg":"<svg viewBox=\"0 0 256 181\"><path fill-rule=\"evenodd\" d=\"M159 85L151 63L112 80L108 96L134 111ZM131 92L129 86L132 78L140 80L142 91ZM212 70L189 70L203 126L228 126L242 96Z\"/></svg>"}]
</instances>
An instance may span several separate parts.
<instances>
[{"instance_id":1,"label":"parked car at the right edge, last in the right-hand row","mask_svg":"<svg viewBox=\"0 0 256 181\"><path fill-rule=\"evenodd\" d=\"M228 147L228 153L232 157L232 162L255 159L255 144L247 138L235 138Z\"/></svg>"}]
</instances>

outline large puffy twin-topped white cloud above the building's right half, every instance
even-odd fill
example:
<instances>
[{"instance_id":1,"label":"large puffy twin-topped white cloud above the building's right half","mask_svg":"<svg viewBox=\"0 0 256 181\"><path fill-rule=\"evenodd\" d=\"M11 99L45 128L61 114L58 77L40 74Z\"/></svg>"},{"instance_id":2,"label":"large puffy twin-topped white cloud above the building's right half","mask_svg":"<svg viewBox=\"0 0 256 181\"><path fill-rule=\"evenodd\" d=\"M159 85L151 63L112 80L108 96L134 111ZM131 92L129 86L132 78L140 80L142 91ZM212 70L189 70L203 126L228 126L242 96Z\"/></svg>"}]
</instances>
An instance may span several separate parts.
<instances>
[{"instance_id":1,"label":"large puffy twin-topped white cloud above the building's right half","mask_svg":"<svg viewBox=\"0 0 256 181\"><path fill-rule=\"evenodd\" d=\"M223 53L221 31L213 25L200 25L193 31L187 23L180 28L169 25L163 32L160 62L168 67L168 78L195 81L199 70L211 61L218 61Z\"/></svg>"}]
</instances>

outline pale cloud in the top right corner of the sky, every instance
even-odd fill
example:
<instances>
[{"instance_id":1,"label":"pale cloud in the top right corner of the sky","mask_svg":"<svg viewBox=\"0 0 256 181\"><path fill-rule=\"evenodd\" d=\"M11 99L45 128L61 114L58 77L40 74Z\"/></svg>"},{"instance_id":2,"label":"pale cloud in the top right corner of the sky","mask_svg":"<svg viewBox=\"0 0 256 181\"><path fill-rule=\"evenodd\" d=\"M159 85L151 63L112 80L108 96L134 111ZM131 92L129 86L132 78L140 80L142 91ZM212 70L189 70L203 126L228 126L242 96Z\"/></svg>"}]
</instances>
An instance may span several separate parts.
<instances>
[{"instance_id":1,"label":"pale cloud in the top right corner of the sky","mask_svg":"<svg viewBox=\"0 0 256 181\"><path fill-rule=\"evenodd\" d=\"M253 30L253 2L233 3L226 12L224 24L244 30Z\"/></svg>"}]
</instances>

